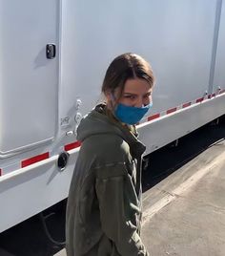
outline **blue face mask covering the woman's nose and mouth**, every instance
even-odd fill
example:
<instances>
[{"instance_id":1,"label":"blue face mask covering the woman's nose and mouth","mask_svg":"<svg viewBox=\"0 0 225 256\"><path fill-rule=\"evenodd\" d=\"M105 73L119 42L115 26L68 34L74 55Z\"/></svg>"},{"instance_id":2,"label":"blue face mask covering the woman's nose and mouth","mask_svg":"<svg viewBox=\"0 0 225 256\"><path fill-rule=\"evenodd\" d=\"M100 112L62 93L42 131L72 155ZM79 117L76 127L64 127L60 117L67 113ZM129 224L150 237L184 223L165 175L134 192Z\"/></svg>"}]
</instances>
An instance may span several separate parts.
<instances>
[{"instance_id":1,"label":"blue face mask covering the woman's nose and mouth","mask_svg":"<svg viewBox=\"0 0 225 256\"><path fill-rule=\"evenodd\" d=\"M141 108L119 103L114 111L115 117L127 124L135 124L153 107L153 102Z\"/></svg>"}]
</instances>

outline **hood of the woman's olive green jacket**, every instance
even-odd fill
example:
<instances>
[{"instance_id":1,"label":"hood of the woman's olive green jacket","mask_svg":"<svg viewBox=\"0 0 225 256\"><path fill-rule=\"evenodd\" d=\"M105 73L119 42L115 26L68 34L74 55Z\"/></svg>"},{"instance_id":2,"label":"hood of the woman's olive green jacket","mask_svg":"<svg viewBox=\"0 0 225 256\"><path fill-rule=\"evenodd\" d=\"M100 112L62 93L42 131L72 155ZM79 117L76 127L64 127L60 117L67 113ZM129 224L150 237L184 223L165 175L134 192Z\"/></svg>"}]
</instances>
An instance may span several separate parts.
<instances>
[{"instance_id":1,"label":"hood of the woman's olive green jacket","mask_svg":"<svg viewBox=\"0 0 225 256\"><path fill-rule=\"evenodd\" d=\"M105 104L97 105L90 114L82 118L77 128L77 139L81 142L91 136L101 134L113 134L121 137L127 141L130 147L135 147L134 151L138 151L140 154L143 154L146 149L128 127L125 127L121 122L108 117Z\"/></svg>"}]
</instances>

